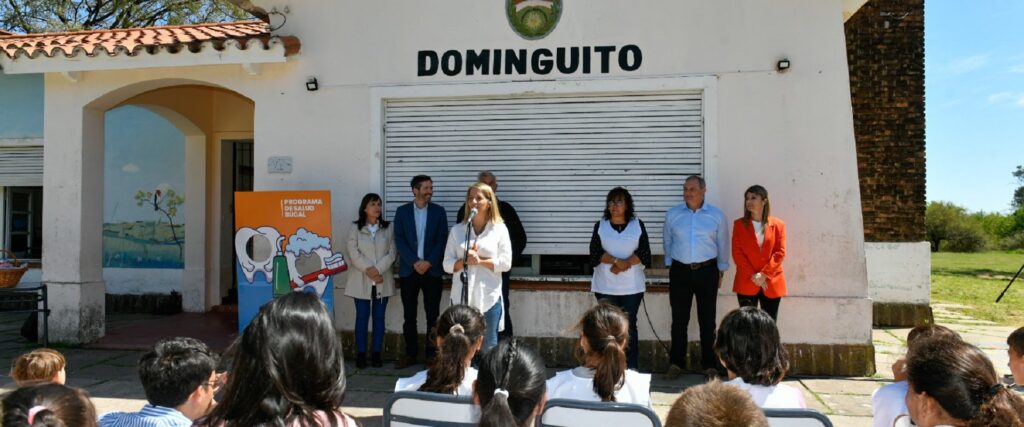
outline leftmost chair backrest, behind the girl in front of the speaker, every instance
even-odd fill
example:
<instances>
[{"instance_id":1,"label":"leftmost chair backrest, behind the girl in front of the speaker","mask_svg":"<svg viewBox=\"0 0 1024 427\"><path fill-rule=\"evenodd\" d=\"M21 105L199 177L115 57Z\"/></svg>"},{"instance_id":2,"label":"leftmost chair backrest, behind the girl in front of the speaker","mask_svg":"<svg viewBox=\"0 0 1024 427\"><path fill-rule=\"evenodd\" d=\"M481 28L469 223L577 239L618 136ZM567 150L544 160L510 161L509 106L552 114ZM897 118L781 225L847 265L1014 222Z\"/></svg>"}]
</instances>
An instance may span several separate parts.
<instances>
[{"instance_id":1,"label":"leftmost chair backrest, behind the girl in front of the speaker","mask_svg":"<svg viewBox=\"0 0 1024 427\"><path fill-rule=\"evenodd\" d=\"M480 408L469 396L398 391L384 403L384 427L475 427Z\"/></svg>"}]
</instances>

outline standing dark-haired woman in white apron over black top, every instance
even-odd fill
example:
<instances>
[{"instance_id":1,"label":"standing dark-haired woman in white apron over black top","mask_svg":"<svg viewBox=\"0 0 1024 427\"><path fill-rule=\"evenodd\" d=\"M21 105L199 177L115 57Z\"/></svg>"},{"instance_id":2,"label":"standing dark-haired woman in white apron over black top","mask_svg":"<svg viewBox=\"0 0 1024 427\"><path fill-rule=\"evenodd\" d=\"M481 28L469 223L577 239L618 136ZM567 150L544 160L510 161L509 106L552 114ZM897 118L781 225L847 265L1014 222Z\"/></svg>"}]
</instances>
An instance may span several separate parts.
<instances>
[{"instance_id":1,"label":"standing dark-haired woman in white apron over black top","mask_svg":"<svg viewBox=\"0 0 1024 427\"><path fill-rule=\"evenodd\" d=\"M646 290L644 269L650 266L650 242L626 188L616 186L605 198L604 216L594 224L590 238L590 261L594 267L590 288L594 296L618 306L630 317L626 359L629 369L636 370L640 353L637 313Z\"/></svg>"}]
</instances>

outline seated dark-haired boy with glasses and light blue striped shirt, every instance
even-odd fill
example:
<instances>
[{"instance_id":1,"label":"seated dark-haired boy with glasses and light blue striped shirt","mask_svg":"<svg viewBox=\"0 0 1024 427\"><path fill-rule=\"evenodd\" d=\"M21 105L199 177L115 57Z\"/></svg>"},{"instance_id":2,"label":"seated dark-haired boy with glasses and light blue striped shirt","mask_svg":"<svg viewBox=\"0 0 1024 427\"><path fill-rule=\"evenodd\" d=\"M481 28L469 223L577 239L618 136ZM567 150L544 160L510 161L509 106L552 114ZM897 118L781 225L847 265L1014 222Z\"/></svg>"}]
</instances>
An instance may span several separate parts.
<instances>
[{"instance_id":1,"label":"seated dark-haired boy with glasses and light blue striped shirt","mask_svg":"<svg viewBox=\"0 0 1024 427\"><path fill-rule=\"evenodd\" d=\"M110 413L99 427L187 427L206 416L220 388L218 356L195 338L157 343L138 360L138 378L148 403L137 413Z\"/></svg>"}]
</instances>

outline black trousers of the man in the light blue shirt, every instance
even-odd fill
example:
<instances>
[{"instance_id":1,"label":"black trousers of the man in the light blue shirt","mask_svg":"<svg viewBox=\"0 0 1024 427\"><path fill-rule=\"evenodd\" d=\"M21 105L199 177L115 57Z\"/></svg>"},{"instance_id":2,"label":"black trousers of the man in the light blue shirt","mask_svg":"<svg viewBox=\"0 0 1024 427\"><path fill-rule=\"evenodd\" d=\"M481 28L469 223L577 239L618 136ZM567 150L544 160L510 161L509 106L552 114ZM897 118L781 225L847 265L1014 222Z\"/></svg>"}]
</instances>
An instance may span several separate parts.
<instances>
[{"instance_id":1,"label":"black trousers of the man in the light blue shirt","mask_svg":"<svg viewBox=\"0 0 1024 427\"><path fill-rule=\"evenodd\" d=\"M718 264L711 262L697 269L676 260L669 269L669 304L672 306L672 349L669 361L686 367L686 329L690 324L693 298L697 300L697 326L700 328L700 367L719 369L715 356L715 308L718 303Z\"/></svg>"}]
</instances>

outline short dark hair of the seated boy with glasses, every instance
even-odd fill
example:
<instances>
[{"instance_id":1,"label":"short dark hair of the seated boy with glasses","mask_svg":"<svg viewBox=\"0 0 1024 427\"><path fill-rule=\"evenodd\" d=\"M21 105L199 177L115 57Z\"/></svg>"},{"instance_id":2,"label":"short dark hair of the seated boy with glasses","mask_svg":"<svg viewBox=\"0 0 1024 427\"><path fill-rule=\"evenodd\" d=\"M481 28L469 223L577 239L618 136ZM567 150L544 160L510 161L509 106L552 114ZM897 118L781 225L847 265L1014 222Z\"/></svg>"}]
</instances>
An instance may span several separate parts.
<instances>
[{"instance_id":1,"label":"short dark hair of the seated boy with glasses","mask_svg":"<svg viewBox=\"0 0 1024 427\"><path fill-rule=\"evenodd\" d=\"M138 358L138 379L150 403L175 408L210 380L220 357L200 340L176 337L161 340Z\"/></svg>"}]
</instances>

